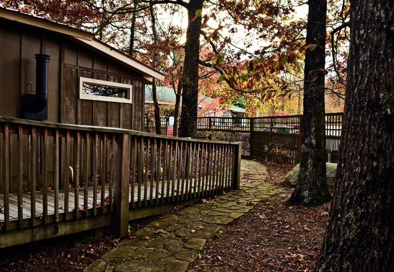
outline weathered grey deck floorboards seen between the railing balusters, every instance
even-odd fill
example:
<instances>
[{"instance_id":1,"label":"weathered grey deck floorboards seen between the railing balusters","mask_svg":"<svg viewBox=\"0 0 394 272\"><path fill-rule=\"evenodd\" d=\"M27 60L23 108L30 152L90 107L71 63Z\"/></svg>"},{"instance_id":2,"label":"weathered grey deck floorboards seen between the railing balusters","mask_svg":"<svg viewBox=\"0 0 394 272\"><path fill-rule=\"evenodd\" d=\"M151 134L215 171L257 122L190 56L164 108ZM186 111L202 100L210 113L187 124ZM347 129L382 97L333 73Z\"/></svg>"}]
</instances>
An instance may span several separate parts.
<instances>
[{"instance_id":1,"label":"weathered grey deck floorboards seen between the railing balusters","mask_svg":"<svg viewBox=\"0 0 394 272\"><path fill-rule=\"evenodd\" d=\"M193 181L192 181L193 182ZM169 190L167 190L167 181L164 183L164 192L162 193L162 182L159 182L159 189L158 189L158 198L166 197L167 192L169 192L169 197L172 196L172 182L169 182ZM131 184L129 186L129 191L132 191ZM175 181L175 186L174 186L174 195L177 196L178 194L181 195L182 189L181 189L182 183L179 184L179 189L177 187L177 181ZM141 192L140 192L140 198L141 200L150 200L151 198L155 199L156 198L156 183L152 185L152 196L151 196L151 182L147 183L147 196L144 198L145 195L145 184L141 184ZM205 188L208 187L208 184L204 185L204 190ZM79 202L79 207L78 209L84 209L84 188L79 188L78 189L78 202ZM192 186L191 191L188 190L189 193L194 193L195 189L194 186ZM206 190L205 190L206 191ZM59 213L64 213L64 190L59 190ZM183 189L183 193L186 193L186 189ZM48 215L54 214L54 194L55 192L48 191ZM101 188L97 187L97 207L101 206L100 203L100 195L101 195ZM109 195L109 189L106 187L105 197ZM31 195L30 192L28 193L22 193L22 201L23 201L23 219L25 218L30 218L31 211L30 211L30 203L31 203ZM74 189L69 190L69 207L68 211L72 212L74 211L74 201L75 201L75 193ZM138 184L134 184L134 198L132 199L131 193L129 194L129 202L137 202L138 201ZM0 206L4 205L4 195L0 195ZM109 206L108 204L105 206ZM93 187L88 188L88 209L93 208ZM41 213L43 213L43 192L37 191L35 192L35 212L36 215L39 216ZM18 219L18 196L16 193L9 194L9 220L17 220ZM4 214L0 213L0 222L4 221Z\"/></svg>"}]
</instances>

